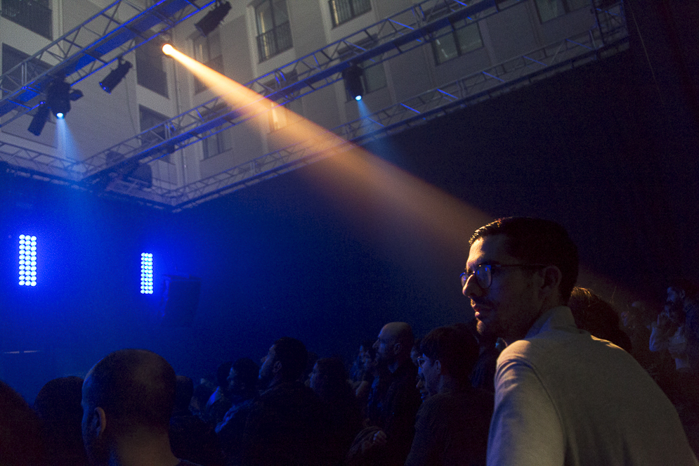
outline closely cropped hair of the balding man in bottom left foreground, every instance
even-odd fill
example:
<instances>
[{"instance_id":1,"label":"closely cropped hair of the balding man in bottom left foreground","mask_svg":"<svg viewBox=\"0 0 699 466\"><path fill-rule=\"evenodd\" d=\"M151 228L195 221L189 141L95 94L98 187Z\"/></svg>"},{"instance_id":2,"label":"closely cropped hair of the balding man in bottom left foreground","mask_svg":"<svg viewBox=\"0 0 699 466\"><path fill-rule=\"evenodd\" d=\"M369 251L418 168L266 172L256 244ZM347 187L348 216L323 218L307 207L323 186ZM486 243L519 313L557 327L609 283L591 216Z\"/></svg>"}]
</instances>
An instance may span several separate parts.
<instances>
[{"instance_id":1,"label":"closely cropped hair of the balding man in bottom left foreground","mask_svg":"<svg viewBox=\"0 0 699 466\"><path fill-rule=\"evenodd\" d=\"M165 358L145 349L122 349L88 374L88 399L124 429L167 430L175 404L175 371Z\"/></svg>"}]
</instances>

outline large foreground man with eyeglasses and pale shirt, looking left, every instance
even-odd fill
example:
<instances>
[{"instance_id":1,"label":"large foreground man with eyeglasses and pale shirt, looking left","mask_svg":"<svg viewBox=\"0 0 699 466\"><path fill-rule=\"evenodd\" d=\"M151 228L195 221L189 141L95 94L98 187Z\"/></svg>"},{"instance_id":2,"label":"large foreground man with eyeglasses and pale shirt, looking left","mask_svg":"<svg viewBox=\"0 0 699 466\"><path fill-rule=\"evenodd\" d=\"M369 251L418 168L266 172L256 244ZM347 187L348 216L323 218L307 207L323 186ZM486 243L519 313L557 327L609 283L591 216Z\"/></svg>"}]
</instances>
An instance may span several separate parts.
<instances>
[{"instance_id":1,"label":"large foreground man with eyeglasses and pale shirt, looking left","mask_svg":"<svg viewBox=\"0 0 699 466\"><path fill-rule=\"evenodd\" d=\"M497 361L488 465L697 465L677 411L622 349L578 330L566 306L577 247L552 221L479 228L462 274Z\"/></svg>"}]
</instances>

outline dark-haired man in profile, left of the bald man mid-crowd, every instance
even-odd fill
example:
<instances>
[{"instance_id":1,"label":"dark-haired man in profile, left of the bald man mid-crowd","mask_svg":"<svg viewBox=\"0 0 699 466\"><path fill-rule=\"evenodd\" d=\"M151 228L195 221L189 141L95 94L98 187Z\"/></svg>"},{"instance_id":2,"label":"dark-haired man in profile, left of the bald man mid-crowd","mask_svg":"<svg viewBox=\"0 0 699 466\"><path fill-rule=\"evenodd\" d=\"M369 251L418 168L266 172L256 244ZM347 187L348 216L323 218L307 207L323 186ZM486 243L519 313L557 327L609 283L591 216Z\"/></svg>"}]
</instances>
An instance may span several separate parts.
<instances>
[{"instance_id":1,"label":"dark-haired man in profile, left of the bald man mid-crowd","mask_svg":"<svg viewBox=\"0 0 699 466\"><path fill-rule=\"evenodd\" d=\"M259 386L242 438L244 466L322 464L322 407L299 379L308 351L298 339L282 337L262 359Z\"/></svg>"}]
</instances>

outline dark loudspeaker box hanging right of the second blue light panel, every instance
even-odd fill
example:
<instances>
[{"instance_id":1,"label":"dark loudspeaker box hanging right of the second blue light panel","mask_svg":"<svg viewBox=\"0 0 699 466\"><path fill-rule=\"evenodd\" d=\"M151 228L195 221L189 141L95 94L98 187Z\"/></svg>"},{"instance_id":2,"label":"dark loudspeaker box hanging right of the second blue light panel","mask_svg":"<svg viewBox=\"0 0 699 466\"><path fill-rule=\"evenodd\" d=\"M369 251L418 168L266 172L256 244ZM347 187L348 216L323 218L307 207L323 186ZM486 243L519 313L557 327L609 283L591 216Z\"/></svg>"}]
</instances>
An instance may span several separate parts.
<instances>
[{"instance_id":1,"label":"dark loudspeaker box hanging right of the second blue light panel","mask_svg":"<svg viewBox=\"0 0 699 466\"><path fill-rule=\"evenodd\" d=\"M160 325L190 327L199 305L201 290L200 278L166 275L160 298Z\"/></svg>"}]
</instances>

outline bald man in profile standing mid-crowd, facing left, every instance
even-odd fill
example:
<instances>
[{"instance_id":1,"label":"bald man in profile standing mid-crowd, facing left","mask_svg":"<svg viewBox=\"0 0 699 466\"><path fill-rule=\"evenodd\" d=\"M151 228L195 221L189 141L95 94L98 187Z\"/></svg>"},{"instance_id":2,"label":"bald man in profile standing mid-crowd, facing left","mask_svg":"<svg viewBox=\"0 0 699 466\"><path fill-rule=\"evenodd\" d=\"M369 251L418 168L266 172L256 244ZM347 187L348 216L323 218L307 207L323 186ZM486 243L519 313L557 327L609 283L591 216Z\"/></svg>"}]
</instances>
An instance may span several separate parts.
<instances>
[{"instance_id":1,"label":"bald man in profile standing mid-crowd, facing left","mask_svg":"<svg viewBox=\"0 0 699 466\"><path fill-rule=\"evenodd\" d=\"M413 343L412 328L405 322L384 325L374 343L380 369L372 384L367 415L380 429L373 439L380 465L403 465L410 452L415 415L422 401L415 387L417 368L410 360Z\"/></svg>"}]
</instances>

